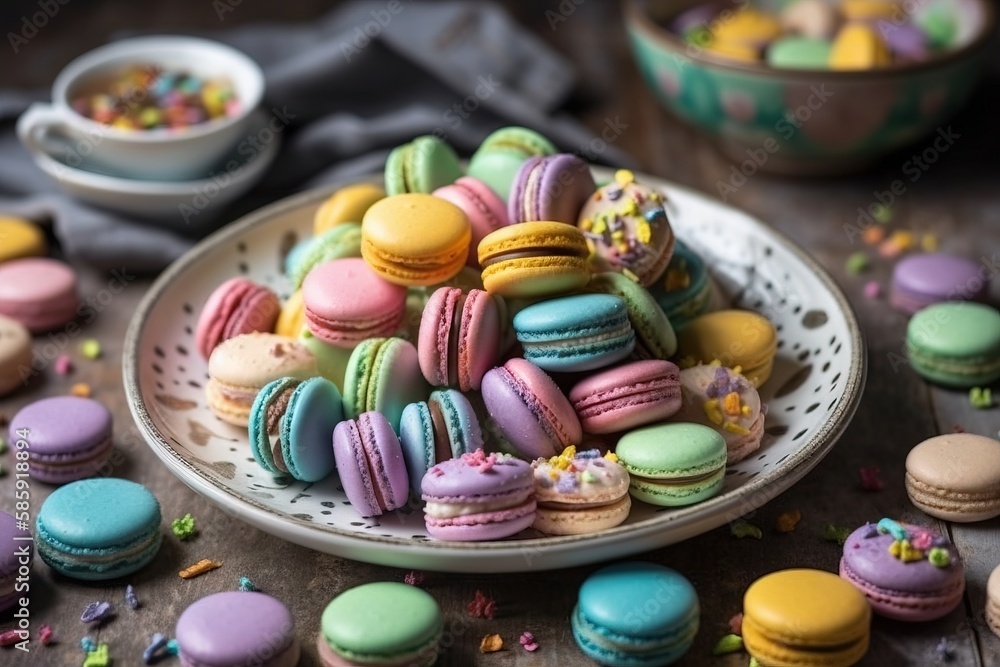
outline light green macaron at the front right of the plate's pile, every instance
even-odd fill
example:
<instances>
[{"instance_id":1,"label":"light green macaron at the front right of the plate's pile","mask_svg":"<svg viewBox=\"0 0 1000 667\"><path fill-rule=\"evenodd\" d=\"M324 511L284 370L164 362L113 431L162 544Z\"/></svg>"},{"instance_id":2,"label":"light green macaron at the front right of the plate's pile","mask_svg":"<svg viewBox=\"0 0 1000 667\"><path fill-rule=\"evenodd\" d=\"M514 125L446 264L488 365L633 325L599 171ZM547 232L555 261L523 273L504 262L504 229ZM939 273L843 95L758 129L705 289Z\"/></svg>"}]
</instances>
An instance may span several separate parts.
<instances>
[{"instance_id":1,"label":"light green macaron at the front right of the plate's pile","mask_svg":"<svg viewBox=\"0 0 1000 667\"><path fill-rule=\"evenodd\" d=\"M626 433L615 448L633 498L663 507L692 505L722 490L726 441L714 428L668 423Z\"/></svg>"}]
</instances>

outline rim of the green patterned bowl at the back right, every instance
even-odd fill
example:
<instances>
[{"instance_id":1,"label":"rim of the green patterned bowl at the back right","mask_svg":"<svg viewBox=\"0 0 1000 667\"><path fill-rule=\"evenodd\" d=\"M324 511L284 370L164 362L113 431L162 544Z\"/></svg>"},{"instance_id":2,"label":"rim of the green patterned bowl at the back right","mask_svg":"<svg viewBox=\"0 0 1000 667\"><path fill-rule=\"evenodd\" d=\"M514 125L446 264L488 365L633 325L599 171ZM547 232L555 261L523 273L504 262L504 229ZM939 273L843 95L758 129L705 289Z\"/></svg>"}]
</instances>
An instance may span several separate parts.
<instances>
[{"instance_id":1,"label":"rim of the green patterned bowl at the back right","mask_svg":"<svg viewBox=\"0 0 1000 667\"><path fill-rule=\"evenodd\" d=\"M895 63L886 67L877 67L868 70L801 69L792 67L779 69L767 65L763 61L759 63L744 63L738 60L731 60L723 56L714 55L705 49L702 49L697 55L689 54L687 52L688 45L679 36L658 25L650 17L648 6L653 2L661 1L622 0L622 12L625 16L626 31L629 33L640 32L645 38L657 42L667 50L676 52L680 57L699 65L732 73L753 74L768 78L788 79L808 77L810 83L866 81L884 76L917 74L939 68L944 69L963 58L984 50L992 39L997 27L997 10L989 0L969 0L975 2L983 12L985 17L984 25L972 41L962 48L950 51L944 55L936 56L922 62ZM705 2L705 0L702 0L702 2ZM675 18L680 11L686 8L684 6L675 8L670 15L671 18Z\"/></svg>"}]
</instances>

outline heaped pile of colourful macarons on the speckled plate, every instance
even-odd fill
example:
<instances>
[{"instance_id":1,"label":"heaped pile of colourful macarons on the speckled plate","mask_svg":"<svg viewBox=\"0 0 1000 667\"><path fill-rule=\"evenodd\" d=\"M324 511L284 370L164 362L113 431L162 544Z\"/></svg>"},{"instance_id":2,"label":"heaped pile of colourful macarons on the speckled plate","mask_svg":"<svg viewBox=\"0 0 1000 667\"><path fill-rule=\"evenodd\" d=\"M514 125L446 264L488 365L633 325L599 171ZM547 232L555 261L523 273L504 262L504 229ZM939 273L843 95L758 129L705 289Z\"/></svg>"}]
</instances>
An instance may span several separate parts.
<instances>
[{"instance_id":1,"label":"heaped pile of colourful macarons on the speckled plate","mask_svg":"<svg viewBox=\"0 0 1000 667\"><path fill-rule=\"evenodd\" d=\"M208 406L262 468L492 540L700 502L760 446L777 334L717 310L664 193L516 127L467 171L418 137L384 182L322 202L283 303L234 278L204 304Z\"/></svg>"}]
</instances>

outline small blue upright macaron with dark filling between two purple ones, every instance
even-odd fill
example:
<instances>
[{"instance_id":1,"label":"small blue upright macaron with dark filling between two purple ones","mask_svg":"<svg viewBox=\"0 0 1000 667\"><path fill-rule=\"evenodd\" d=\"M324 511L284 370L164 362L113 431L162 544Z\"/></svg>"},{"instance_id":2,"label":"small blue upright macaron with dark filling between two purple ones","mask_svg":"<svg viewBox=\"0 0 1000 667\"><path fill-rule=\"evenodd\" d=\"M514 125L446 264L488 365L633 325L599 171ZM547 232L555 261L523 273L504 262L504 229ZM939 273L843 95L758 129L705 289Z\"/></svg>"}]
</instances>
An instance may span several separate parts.
<instances>
[{"instance_id":1,"label":"small blue upright macaron with dark filling between two purple ones","mask_svg":"<svg viewBox=\"0 0 1000 667\"><path fill-rule=\"evenodd\" d=\"M420 494L420 481L435 463L458 458L483 446L479 417L457 389L438 389L427 401L403 408L399 444L410 478L410 488Z\"/></svg>"}]
</instances>

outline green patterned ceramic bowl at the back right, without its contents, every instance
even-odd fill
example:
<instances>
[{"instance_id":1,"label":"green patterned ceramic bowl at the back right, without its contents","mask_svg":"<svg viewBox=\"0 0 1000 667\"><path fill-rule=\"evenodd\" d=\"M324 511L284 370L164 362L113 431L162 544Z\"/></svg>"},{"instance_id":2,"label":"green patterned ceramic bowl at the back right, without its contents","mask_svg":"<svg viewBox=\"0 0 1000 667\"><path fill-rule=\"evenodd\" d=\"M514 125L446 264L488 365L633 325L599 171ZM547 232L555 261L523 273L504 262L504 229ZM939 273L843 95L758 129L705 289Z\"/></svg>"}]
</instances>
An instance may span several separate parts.
<instances>
[{"instance_id":1,"label":"green patterned ceramic bowl at the back right, without its contents","mask_svg":"<svg viewBox=\"0 0 1000 667\"><path fill-rule=\"evenodd\" d=\"M944 0L959 16L959 46L948 54L861 72L779 70L713 56L664 27L703 1L624 0L625 24L660 101L734 161L734 188L757 171L857 171L935 132L936 149L947 150L954 135L943 124L968 100L995 25L990 0Z\"/></svg>"}]
</instances>

